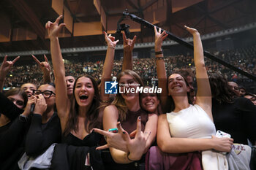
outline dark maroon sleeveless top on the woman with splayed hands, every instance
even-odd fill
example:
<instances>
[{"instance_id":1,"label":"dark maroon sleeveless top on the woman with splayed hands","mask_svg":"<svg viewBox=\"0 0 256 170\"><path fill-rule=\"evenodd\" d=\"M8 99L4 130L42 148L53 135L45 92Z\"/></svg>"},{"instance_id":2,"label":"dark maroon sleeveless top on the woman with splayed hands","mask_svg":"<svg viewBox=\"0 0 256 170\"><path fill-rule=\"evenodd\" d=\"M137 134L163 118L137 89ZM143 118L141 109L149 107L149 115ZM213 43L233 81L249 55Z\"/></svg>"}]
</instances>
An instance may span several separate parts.
<instances>
[{"instance_id":1,"label":"dark maroon sleeveless top on the woman with splayed hands","mask_svg":"<svg viewBox=\"0 0 256 170\"><path fill-rule=\"evenodd\" d=\"M130 110L127 111L127 117L124 122L121 122L122 128L130 134L132 131L135 131L137 128L137 119L140 116L141 120L141 131L144 131L146 123L148 121L148 112L143 109L139 109L136 112Z\"/></svg>"}]
</instances>

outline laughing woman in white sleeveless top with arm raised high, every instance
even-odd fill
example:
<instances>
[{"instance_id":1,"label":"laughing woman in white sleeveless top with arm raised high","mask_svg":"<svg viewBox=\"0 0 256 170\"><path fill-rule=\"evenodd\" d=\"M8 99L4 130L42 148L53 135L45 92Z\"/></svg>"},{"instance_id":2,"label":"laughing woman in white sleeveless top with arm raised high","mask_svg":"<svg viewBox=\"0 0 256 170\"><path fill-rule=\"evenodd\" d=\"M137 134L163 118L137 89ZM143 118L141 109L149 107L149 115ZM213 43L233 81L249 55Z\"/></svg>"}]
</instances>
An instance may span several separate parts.
<instances>
[{"instance_id":1,"label":"laughing woman in white sleeveless top with arm raised high","mask_svg":"<svg viewBox=\"0 0 256 170\"><path fill-rule=\"evenodd\" d=\"M168 96L173 101L173 107L170 113L159 116L157 144L163 152L167 153L203 150L230 152L233 139L213 136L216 129L211 115L211 88L203 58L200 34L194 28L187 26L185 28L192 34L194 39L194 60L197 78L196 101L195 105L189 104L189 85L186 77L181 74L171 74L168 77L167 89L162 91L168 93ZM161 50L162 40L166 37L165 31L161 34L161 30L157 31L155 28L155 37L157 75L160 80L166 78L165 63L162 60L162 53L157 52ZM166 84L162 85L162 87L164 86L166 87Z\"/></svg>"}]
</instances>

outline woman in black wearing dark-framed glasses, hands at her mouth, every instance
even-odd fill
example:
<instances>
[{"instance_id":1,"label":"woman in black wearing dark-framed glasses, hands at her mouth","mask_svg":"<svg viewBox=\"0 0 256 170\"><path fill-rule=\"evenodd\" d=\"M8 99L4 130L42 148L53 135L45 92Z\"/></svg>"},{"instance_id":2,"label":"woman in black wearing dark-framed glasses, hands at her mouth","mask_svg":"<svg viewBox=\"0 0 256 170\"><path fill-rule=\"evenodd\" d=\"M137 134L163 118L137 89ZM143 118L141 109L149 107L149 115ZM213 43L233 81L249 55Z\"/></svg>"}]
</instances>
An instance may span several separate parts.
<instances>
[{"instance_id":1,"label":"woman in black wearing dark-framed glasses, hands at her mouth","mask_svg":"<svg viewBox=\"0 0 256 170\"><path fill-rule=\"evenodd\" d=\"M37 156L53 143L61 142L61 123L55 108L55 86L53 83L40 85L34 90L37 96L31 125L26 134L26 154Z\"/></svg>"}]
</instances>

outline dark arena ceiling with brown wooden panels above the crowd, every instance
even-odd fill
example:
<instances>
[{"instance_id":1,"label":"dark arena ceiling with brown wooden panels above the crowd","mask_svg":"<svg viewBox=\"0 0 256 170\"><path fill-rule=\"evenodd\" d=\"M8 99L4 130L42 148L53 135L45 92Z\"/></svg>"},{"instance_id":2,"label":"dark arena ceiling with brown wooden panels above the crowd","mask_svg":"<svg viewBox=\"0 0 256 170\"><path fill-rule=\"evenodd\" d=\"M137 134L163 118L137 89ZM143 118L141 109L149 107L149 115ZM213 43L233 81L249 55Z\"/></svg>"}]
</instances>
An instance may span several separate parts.
<instances>
[{"instance_id":1,"label":"dark arena ceiling with brown wooden panels above the crowd","mask_svg":"<svg viewBox=\"0 0 256 170\"><path fill-rule=\"evenodd\" d=\"M61 14L61 47L104 45L102 31L114 34L124 9L180 37L189 36L184 25L208 34L256 21L255 0L1 0L0 53L49 50L45 23ZM122 23L138 42L154 41L151 29Z\"/></svg>"}]
</instances>

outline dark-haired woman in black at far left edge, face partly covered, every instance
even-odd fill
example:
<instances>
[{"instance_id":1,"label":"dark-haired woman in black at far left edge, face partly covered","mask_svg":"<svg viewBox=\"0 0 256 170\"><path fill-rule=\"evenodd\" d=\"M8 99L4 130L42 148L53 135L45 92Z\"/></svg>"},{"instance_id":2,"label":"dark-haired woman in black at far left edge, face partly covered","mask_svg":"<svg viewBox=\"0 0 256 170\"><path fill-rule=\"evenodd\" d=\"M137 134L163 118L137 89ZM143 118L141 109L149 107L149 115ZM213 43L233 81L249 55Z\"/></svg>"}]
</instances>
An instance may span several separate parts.
<instances>
[{"instance_id":1,"label":"dark-haired woman in black at far left edge, face partly covered","mask_svg":"<svg viewBox=\"0 0 256 170\"><path fill-rule=\"evenodd\" d=\"M19 88L12 89L5 95L0 93L0 167L3 170L18 169L17 162L24 152L25 134L28 129L24 117L29 115L31 102L27 104L26 92Z\"/></svg>"}]
</instances>

